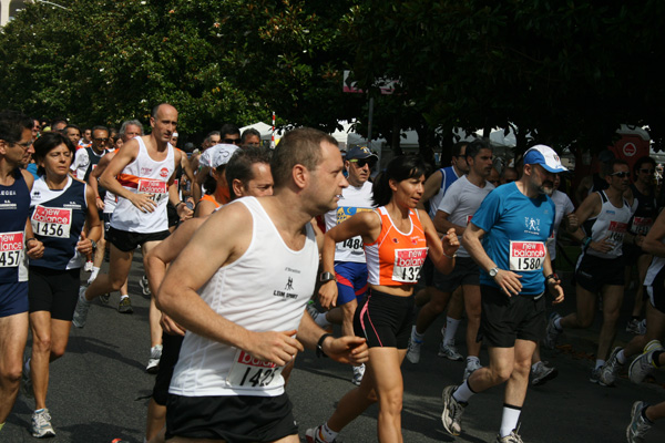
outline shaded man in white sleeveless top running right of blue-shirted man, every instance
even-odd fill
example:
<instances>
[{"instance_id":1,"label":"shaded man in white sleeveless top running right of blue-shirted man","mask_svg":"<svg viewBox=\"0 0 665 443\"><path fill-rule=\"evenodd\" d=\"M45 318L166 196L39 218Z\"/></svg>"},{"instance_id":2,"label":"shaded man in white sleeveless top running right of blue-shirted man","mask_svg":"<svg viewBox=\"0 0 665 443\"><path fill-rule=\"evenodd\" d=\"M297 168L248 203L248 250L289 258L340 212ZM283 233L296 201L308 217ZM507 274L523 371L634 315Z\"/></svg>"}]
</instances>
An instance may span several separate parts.
<instances>
[{"instance_id":1,"label":"shaded man in white sleeveless top running right of blue-shirted man","mask_svg":"<svg viewBox=\"0 0 665 443\"><path fill-rule=\"evenodd\" d=\"M611 173L606 176L610 187L597 190L582 202L575 212L581 229L574 236L582 241L582 258L575 269L577 311L561 317L552 312L548 323L545 346L554 348L556 338L565 328L589 328L596 311L597 293L603 298L603 326L598 337L595 367L590 381L603 387L614 380L601 378L601 370L616 336L616 320L624 293L624 257L622 245L633 243L634 235L627 231L634 213L634 199L626 199L624 193L631 184L631 169L622 159L610 163ZM616 348L610 359L621 349Z\"/></svg>"}]
</instances>

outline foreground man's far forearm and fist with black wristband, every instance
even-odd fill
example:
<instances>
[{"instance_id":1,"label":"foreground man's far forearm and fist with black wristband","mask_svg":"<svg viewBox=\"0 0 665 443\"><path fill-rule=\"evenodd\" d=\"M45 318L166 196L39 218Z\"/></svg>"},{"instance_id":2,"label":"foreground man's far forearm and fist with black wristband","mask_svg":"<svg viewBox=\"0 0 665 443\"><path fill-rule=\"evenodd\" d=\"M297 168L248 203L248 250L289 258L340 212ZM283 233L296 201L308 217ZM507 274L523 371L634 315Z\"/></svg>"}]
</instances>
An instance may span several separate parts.
<instances>
[{"instance_id":1,"label":"foreground man's far forearm and fist with black wristband","mask_svg":"<svg viewBox=\"0 0 665 443\"><path fill-rule=\"evenodd\" d=\"M326 331L316 324L309 312L305 310L298 326L298 341L308 349L316 349L318 341L325 333ZM326 338L321 343L321 350L332 360L352 365L365 363L369 357L365 339L354 336Z\"/></svg>"}]
</instances>

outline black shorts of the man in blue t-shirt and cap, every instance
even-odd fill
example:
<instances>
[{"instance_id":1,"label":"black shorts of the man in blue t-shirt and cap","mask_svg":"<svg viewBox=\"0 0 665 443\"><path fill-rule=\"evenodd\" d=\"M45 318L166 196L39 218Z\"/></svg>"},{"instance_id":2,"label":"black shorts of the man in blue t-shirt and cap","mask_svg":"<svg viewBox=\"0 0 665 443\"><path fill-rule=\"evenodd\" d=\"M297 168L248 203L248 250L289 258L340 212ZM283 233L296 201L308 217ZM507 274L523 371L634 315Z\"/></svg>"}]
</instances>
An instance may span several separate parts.
<instances>
[{"instance_id":1,"label":"black shorts of the man in blue t-shirt and cap","mask_svg":"<svg viewBox=\"0 0 665 443\"><path fill-rule=\"evenodd\" d=\"M518 339L538 342L543 338L544 295L508 297L501 289L487 285L480 286L480 295L482 312L477 341L494 348L513 348Z\"/></svg>"}]
</instances>

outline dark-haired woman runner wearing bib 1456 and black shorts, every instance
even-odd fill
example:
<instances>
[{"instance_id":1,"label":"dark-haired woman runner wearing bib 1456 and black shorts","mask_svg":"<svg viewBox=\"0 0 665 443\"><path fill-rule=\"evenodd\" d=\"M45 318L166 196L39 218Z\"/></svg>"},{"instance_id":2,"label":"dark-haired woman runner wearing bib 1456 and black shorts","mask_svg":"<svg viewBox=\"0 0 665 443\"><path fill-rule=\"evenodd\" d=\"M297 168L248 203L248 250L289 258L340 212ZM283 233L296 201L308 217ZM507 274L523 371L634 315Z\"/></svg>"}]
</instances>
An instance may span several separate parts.
<instances>
[{"instance_id":1,"label":"dark-haired woman runner wearing bib 1456 and black shorts","mask_svg":"<svg viewBox=\"0 0 665 443\"><path fill-rule=\"evenodd\" d=\"M93 190L70 175L72 142L60 133L44 133L34 142L34 153L40 178L30 195L30 222L34 236L44 245L44 254L30 260L28 298L33 343L23 377L27 390L31 381L34 393L32 435L44 437L55 435L45 404L49 363L64 354L81 266L95 248L101 224Z\"/></svg>"}]
</instances>

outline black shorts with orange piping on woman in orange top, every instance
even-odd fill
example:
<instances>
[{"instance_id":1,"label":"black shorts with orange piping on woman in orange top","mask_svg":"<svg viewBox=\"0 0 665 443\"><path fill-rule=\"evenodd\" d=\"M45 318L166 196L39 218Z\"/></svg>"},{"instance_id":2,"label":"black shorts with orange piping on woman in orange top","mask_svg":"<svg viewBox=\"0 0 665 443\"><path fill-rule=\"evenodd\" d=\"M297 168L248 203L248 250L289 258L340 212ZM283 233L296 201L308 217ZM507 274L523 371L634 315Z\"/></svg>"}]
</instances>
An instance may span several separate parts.
<instances>
[{"instance_id":1,"label":"black shorts with orange piping on woman in orange top","mask_svg":"<svg viewBox=\"0 0 665 443\"><path fill-rule=\"evenodd\" d=\"M413 322L413 296L390 296L370 290L356 309L354 332L370 348L407 349Z\"/></svg>"}]
</instances>

